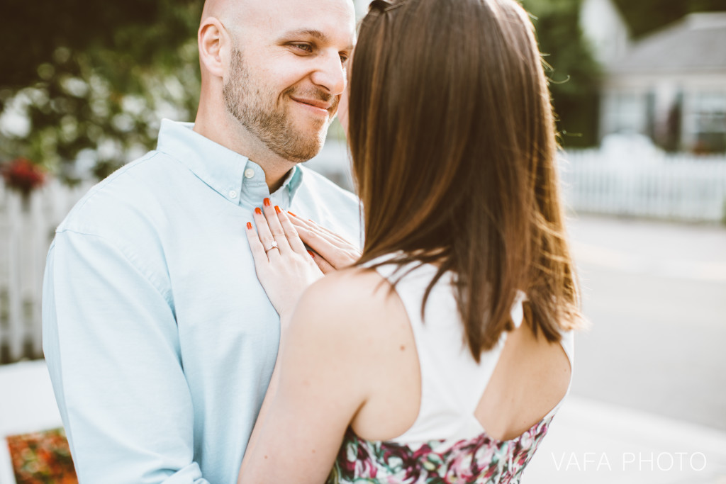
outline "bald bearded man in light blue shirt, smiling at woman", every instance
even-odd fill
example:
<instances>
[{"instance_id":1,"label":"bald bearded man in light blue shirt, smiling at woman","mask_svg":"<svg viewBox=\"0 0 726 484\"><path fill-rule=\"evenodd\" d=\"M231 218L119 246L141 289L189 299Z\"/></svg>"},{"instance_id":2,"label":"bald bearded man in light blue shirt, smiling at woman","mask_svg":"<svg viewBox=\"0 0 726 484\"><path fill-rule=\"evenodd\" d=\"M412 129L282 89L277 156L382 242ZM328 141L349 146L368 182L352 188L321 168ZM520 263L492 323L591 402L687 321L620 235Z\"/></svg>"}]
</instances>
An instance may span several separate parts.
<instances>
[{"instance_id":1,"label":"bald bearded man in light blue shirt, smiling at woman","mask_svg":"<svg viewBox=\"0 0 726 484\"><path fill-rule=\"evenodd\" d=\"M353 41L346 0L208 0L193 128L164 120L58 227L44 351L81 483L236 482L280 335L245 224L277 205L359 240L355 197L298 166Z\"/></svg>"}]
</instances>

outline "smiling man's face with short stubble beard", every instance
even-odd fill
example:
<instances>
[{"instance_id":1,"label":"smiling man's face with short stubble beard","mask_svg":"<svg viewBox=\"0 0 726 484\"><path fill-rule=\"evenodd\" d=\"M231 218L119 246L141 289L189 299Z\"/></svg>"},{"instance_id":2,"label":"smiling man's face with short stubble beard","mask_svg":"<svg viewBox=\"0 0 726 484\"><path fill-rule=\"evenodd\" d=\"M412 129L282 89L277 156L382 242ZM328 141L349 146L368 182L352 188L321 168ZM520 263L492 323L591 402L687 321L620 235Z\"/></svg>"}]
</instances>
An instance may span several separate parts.
<instances>
[{"instance_id":1,"label":"smiling man's face with short stubble beard","mask_svg":"<svg viewBox=\"0 0 726 484\"><path fill-rule=\"evenodd\" d=\"M276 155L309 160L322 147L346 86L352 4L272 0L255 10L256 22L232 31L237 45L224 79L227 111Z\"/></svg>"}]
</instances>

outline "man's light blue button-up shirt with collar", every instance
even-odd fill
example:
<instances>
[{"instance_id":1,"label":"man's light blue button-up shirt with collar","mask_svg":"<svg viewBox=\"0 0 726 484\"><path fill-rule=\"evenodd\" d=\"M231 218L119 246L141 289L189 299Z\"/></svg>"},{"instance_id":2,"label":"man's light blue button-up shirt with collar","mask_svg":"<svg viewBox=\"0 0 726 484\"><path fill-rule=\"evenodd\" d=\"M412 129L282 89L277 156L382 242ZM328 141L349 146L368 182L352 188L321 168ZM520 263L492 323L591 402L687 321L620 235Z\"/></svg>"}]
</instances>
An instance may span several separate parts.
<instances>
[{"instance_id":1,"label":"man's light blue button-up shirt with collar","mask_svg":"<svg viewBox=\"0 0 726 484\"><path fill-rule=\"evenodd\" d=\"M164 120L158 148L94 186L56 231L43 340L81 483L236 483L277 356L245 223L264 197L360 240L353 194L262 169Z\"/></svg>"}]
</instances>

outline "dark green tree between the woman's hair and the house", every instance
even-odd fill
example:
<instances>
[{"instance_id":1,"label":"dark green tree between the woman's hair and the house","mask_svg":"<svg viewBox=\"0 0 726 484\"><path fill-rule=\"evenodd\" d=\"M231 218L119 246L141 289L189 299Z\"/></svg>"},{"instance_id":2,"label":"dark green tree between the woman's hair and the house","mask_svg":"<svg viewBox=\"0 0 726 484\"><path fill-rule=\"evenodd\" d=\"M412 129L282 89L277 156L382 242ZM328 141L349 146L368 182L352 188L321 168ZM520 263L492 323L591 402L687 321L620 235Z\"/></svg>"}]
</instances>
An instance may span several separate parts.
<instances>
[{"instance_id":1,"label":"dark green tree between the woman's hair and the house","mask_svg":"<svg viewBox=\"0 0 726 484\"><path fill-rule=\"evenodd\" d=\"M581 0L522 0L522 4L534 16L539 49L549 65L560 144L596 144L600 67L579 27Z\"/></svg>"}]
</instances>

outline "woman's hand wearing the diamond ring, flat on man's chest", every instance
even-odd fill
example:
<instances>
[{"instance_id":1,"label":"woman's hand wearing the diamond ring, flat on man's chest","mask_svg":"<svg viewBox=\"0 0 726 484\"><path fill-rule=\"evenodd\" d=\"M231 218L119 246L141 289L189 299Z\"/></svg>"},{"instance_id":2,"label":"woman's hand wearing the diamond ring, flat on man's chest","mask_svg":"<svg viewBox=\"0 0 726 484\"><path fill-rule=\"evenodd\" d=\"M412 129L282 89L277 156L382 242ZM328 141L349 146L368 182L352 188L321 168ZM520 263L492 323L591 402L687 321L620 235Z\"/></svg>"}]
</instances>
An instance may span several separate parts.
<instances>
[{"instance_id":1,"label":"woman's hand wearing the diamond ring, flat on man's chest","mask_svg":"<svg viewBox=\"0 0 726 484\"><path fill-rule=\"evenodd\" d=\"M257 231L247 223L247 238L255 261L257 279L280 319L289 316L303 291L320 279L322 271L298 237L290 217L280 207L264 200L264 214L255 209Z\"/></svg>"}]
</instances>

